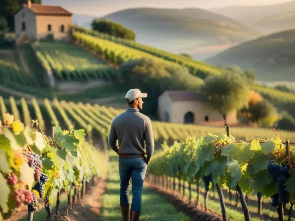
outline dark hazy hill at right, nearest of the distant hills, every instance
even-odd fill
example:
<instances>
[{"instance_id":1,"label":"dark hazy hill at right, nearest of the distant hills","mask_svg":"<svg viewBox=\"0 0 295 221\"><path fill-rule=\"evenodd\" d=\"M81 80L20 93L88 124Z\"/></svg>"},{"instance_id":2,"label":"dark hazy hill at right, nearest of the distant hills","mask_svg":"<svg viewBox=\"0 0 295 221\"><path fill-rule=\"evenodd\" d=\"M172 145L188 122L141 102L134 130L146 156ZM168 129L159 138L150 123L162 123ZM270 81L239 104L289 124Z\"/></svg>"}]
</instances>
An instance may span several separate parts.
<instances>
[{"instance_id":1,"label":"dark hazy hill at right, nearest of the distant hills","mask_svg":"<svg viewBox=\"0 0 295 221\"><path fill-rule=\"evenodd\" d=\"M244 42L206 60L252 69L259 80L295 81L295 29Z\"/></svg>"}]
</instances>

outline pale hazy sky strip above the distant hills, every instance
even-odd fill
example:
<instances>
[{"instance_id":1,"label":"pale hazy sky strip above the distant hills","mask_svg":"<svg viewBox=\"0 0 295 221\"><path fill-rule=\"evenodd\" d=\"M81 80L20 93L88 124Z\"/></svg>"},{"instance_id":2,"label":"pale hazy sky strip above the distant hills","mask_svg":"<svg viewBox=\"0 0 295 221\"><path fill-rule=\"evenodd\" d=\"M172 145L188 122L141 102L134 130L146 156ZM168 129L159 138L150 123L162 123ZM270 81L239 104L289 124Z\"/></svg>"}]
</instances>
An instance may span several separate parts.
<instances>
[{"instance_id":1,"label":"pale hazy sky strip above the distant hills","mask_svg":"<svg viewBox=\"0 0 295 221\"><path fill-rule=\"evenodd\" d=\"M43 4L60 5L75 14L95 16L135 7L157 8L216 8L230 5L265 5L290 0L42 0Z\"/></svg>"}]
</instances>

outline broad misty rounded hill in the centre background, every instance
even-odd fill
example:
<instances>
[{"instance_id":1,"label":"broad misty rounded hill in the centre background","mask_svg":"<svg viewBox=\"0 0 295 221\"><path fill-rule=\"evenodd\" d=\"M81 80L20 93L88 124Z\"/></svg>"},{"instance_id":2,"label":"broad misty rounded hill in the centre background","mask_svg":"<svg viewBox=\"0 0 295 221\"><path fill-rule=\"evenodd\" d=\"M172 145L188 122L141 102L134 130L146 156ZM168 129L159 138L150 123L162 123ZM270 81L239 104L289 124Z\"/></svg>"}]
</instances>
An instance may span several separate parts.
<instances>
[{"instance_id":1,"label":"broad misty rounded hill in the centre background","mask_svg":"<svg viewBox=\"0 0 295 221\"><path fill-rule=\"evenodd\" d=\"M262 33L229 17L203 9L135 8L118 11L104 18L132 29L137 42L170 52L188 52L197 59L206 55L198 48L210 46L210 53L232 44L260 36ZM84 24L89 27L91 21ZM214 48L214 46L217 46ZM207 57L210 55L207 52Z\"/></svg>"}]
</instances>

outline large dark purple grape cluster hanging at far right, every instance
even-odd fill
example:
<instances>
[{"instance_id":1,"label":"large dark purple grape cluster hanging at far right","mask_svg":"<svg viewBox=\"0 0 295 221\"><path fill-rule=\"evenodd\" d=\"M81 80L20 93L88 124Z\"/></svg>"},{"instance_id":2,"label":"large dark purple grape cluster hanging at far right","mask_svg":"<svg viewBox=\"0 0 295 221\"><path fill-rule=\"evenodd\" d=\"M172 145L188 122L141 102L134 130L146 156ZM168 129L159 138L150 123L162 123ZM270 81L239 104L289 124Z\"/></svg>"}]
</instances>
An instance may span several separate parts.
<instances>
[{"instance_id":1,"label":"large dark purple grape cluster hanging at far right","mask_svg":"<svg viewBox=\"0 0 295 221\"><path fill-rule=\"evenodd\" d=\"M276 183L278 198L281 203L289 203L289 193L285 190L285 183L289 179L289 165L280 165L269 162L267 170Z\"/></svg>"}]
</instances>

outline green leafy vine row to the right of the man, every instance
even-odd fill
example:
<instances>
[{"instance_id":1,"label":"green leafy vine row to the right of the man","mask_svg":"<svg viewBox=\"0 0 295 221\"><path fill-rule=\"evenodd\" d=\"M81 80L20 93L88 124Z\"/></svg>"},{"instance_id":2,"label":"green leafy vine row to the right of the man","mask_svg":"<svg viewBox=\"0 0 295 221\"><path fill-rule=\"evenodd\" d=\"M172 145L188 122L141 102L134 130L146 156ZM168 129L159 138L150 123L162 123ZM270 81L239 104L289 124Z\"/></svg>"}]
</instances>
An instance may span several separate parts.
<instances>
[{"instance_id":1,"label":"green leafy vine row to the right of the man","mask_svg":"<svg viewBox=\"0 0 295 221\"><path fill-rule=\"evenodd\" d=\"M200 138L189 137L172 146L164 142L163 151L150 161L147 173L174 175L189 183L199 183L202 176L211 174L212 183L224 189L235 190L239 185L246 194L261 192L263 196L272 197L277 187L267 166L273 159L278 163L285 161L286 147L281 142L278 137L267 141L237 141L225 134L211 133ZM290 169L290 175L285 189L294 194L291 188L294 169ZM294 202L294 198L290 198L290 202Z\"/></svg>"}]
</instances>

